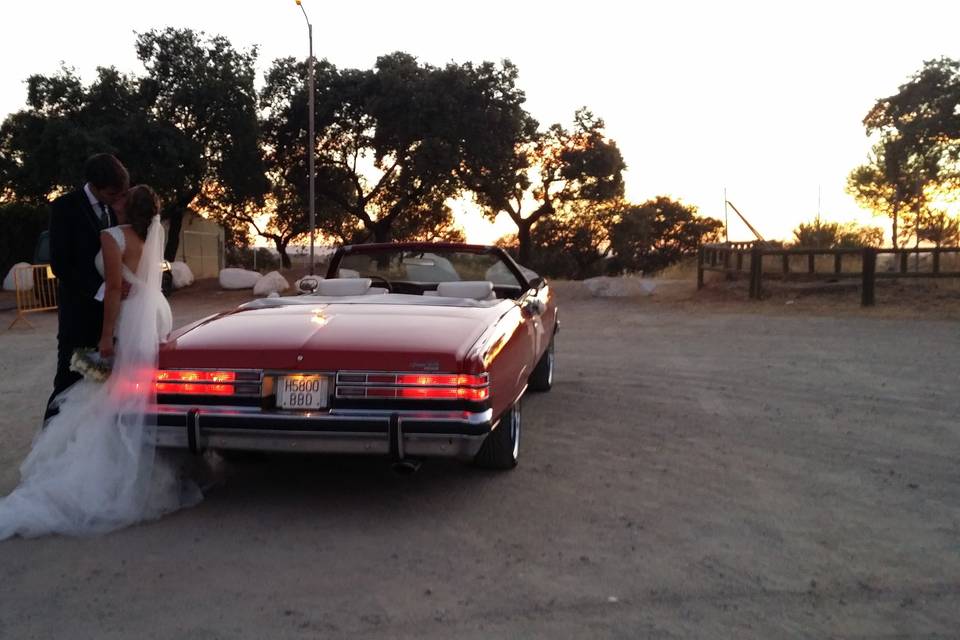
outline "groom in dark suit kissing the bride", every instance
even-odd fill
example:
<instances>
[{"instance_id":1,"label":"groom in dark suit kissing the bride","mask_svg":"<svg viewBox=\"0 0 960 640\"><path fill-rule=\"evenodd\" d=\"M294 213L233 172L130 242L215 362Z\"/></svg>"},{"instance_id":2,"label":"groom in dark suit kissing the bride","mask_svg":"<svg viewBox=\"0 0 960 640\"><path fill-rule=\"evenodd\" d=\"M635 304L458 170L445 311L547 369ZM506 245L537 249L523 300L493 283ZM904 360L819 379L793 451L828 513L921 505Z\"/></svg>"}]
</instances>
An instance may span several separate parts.
<instances>
[{"instance_id":1,"label":"groom in dark suit kissing the bride","mask_svg":"<svg viewBox=\"0 0 960 640\"><path fill-rule=\"evenodd\" d=\"M103 327L103 303L96 299L103 278L94 259L100 231L117 224L111 205L130 187L127 169L109 153L98 153L84 165L86 184L53 201L50 213L50 266L57 291L57 375L44 420L56 415L54 397L80 379L70 371L70 358L80 347L96 348Z\"/></svg>"}]
</instances>

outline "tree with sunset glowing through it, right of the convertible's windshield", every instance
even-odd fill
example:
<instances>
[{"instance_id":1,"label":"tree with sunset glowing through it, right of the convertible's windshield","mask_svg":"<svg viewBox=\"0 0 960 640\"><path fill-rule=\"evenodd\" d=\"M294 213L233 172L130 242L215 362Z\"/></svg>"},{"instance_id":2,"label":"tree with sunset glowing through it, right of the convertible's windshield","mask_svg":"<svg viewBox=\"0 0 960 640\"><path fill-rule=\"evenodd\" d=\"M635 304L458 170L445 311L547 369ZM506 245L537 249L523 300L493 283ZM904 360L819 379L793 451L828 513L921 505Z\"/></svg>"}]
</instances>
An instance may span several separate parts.
<instances>
[{"instance_id":1,"label":"tree with sunset glowing through it, right of the convertible's windshield","mask_svg":"<svg viewBox=\"0 0 960 640\"><path fill-rule=\"evenodd\" d=\"M531 232L565 205L615 202L623 196L626 164L603 120L588 109L574 115L572 129L554 124L544 132L514 128L513 152L493 170L470 173L467 184L491 219L506 212L517 225L518 259L529 262Z\"/></svg>"}]
</instances>

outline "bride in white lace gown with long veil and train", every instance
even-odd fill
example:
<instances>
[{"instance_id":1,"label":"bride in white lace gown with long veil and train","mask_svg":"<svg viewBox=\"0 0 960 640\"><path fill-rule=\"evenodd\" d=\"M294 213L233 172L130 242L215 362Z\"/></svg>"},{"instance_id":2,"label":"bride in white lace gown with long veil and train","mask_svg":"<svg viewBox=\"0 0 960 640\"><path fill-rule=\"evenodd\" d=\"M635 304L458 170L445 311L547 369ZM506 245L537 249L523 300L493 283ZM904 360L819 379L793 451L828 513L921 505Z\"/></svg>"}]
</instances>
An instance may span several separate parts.
<instances>
[{"instance_id":1,"label":"bride in white lace gown with long veil and train","mask_svg":"<svg viewBox=\"0 0 960 640\"><path fill-rule=\"evenodd\" d=\"M99 348L113 356L112 373L104 383L81 380L57 398L59 414L37 435L20 485L0 498L0 540L103 533L201 499L195 484L156 456L147 419L159 342L172 327L160 291L159 201L138 185L116 210L125 224L101 233L97 256L105 281ZM121 300L124 281L130 293Z\"/></svg>"}]
</instances>

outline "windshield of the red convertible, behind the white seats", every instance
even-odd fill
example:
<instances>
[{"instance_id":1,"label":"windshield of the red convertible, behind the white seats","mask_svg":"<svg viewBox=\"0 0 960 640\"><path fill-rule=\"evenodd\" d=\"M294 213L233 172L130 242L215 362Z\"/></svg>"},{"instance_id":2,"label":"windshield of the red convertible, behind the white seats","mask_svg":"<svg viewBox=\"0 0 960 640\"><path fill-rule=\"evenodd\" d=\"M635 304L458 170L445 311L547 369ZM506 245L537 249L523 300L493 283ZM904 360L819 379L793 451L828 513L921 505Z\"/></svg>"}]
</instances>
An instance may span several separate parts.
<instances>
[{"instance_id":1,"label":"windshield of the red convertible, behind the white seats","mask_svg":"<svg viewBox=\"0 0 960 640\"><path fill-rule=\"evenodd\" d=\"M421 285L489 280L495 287L523 285L496 253L376 251L345 254L334 277L373 278Z\"/></svg>"}]
</instances>

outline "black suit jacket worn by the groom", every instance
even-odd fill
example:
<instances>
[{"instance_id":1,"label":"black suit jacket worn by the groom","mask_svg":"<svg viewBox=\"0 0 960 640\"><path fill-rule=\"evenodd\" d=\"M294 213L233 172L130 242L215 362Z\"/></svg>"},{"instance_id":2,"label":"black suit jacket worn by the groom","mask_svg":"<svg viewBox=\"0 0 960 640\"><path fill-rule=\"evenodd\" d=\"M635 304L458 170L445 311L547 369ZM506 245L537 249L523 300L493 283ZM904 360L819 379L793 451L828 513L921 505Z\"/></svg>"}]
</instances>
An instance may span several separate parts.
<instances>
[{"instance_id":1,"label":"black suit jacket worn by the groom","mask_svg":"<svg viewBox=\"0 0 960 640\"><path fill-rule=\"evenodd\" d=\"M99 251L100 220L83 188L54 200L50 266L59 282L59 333L74 346L95 346L100 339L103 304L94 299L103 283L94 264Z\"/></svg>"}]
</instances>

